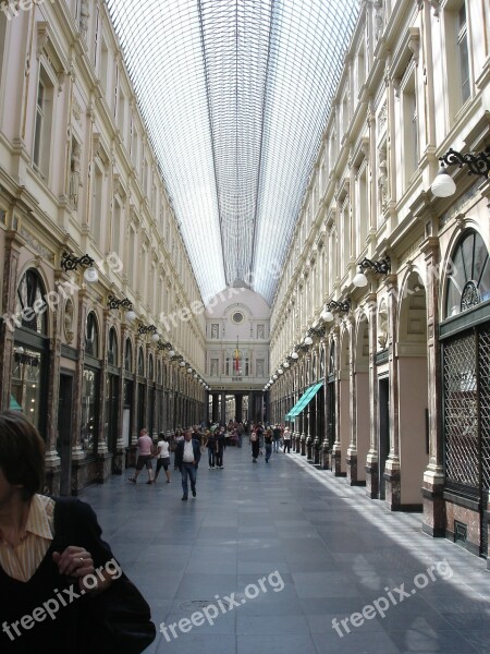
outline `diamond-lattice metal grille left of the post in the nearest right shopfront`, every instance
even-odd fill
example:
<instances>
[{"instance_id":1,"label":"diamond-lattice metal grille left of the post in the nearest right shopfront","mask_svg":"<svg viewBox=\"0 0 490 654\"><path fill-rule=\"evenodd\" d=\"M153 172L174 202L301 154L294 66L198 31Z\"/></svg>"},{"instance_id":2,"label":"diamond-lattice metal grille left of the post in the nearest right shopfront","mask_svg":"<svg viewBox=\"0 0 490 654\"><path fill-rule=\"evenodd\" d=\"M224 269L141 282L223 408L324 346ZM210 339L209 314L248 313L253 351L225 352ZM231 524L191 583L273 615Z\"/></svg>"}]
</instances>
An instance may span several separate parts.
<instances>
[{"instance_id":1,"label":"diamond-lattice metal grille left of the post in the nearest right shopfront","mask_svg":"<svg viewBox=\"0 0 490 654\"><path fill-rule=\"evenodd\" d=\"M476 334L444 347L445 474L449 487L478 494Z\"/></svg>"}]
</instances>

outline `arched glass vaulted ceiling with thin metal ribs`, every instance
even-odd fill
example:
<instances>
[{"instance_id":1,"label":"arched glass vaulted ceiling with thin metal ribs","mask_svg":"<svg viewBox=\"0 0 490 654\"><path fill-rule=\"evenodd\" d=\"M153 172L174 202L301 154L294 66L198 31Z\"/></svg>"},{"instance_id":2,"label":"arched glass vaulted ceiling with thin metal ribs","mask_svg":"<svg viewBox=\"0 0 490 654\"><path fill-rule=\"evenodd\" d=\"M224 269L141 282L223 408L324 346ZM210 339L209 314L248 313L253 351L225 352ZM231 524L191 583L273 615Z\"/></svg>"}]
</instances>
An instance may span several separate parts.
<instances>
[{"instance_id":1,"label":"arched glass vaulted ceiling with thin metal ribs","mask_svg":"<svg viewBox=\"0 0 490 654\"><path fill-rule=\"evenodd\" d=\"M358 0L108 0L205 301L271 304Z\"/></svg>"}]
</instances>

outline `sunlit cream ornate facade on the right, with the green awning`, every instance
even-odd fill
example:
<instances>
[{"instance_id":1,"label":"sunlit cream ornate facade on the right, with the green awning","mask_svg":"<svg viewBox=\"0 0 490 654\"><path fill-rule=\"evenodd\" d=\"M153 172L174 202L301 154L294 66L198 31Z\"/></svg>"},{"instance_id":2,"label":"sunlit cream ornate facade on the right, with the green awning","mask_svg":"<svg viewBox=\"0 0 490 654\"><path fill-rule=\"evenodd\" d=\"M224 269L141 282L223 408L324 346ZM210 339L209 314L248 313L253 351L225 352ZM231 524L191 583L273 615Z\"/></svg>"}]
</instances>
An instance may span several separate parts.
<instances>
[{"instance_id":1,"label":"sunlit cream ornate facade on the right, with the green awning","mask_svg":"<svg viewBox=\"0 0 490 654\"><path fill-rule=\"evenodd\" d=\"M485 164L468 175L451 157L455 193L431 185L449 148L490 145L489 35L488 2L363 3L274 299L268 385L296 451L483 556L490 186Z\"/></svg>"}]
</instances>

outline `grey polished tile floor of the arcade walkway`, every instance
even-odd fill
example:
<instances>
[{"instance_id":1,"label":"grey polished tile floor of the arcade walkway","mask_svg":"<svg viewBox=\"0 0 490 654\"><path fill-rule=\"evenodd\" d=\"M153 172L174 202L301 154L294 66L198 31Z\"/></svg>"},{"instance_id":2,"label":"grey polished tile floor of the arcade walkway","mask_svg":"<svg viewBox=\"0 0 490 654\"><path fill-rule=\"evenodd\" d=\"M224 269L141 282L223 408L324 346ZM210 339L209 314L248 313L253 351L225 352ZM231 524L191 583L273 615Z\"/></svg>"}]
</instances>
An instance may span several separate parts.
<instances>
[{"instance_id":1,"label":"grey polished tile floor of the arcade walkway","mask_svg":"<svg viewBox=\"0 0 490 654\"><path fill-rule=\"evenodd\" d=\"M254 464L245 441L223 470L206 459L186 502L176 472L81 495L161 626L148 653L490 654L486 561L424 535L420 514L299 455Z\"/></svg>"}]
</instances>

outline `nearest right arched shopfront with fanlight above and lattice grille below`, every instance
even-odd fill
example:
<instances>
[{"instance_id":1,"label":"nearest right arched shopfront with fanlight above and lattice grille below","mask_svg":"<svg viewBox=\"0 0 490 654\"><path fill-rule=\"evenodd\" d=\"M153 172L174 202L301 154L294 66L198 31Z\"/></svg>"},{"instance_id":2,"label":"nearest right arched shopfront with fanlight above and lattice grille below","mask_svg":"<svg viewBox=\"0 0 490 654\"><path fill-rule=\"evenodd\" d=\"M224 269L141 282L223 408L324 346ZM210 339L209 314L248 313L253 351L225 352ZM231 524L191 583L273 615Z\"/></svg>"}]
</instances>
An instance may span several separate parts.
<instances>
[{"instance_id":1,"label":"nearest right arched shopfront with fanlight above and lattice grille below","mask_svg":"<svg viewBox=\"0 0 490 654\"><path fill-rule=\"evenodd\" d=\"M488 555L490 493L490 263L480 234L466 230L452 252L440 326L443 375L445 531Z\"/></svg>"}]
</instances>

